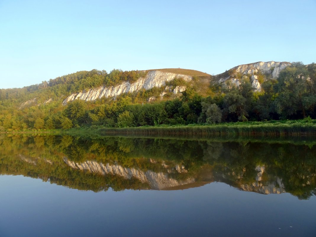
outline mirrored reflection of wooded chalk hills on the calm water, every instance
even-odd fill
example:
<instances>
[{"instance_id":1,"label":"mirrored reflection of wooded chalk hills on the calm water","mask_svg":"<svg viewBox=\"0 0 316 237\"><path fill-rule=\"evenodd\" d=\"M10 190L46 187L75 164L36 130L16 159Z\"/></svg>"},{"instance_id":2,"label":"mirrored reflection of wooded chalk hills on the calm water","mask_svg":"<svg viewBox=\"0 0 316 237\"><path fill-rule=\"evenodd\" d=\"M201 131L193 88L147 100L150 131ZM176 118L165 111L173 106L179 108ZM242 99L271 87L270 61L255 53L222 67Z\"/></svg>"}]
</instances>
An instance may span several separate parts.
<instances>
[{"instance_id":1,"label":"mirrored reflection of wooded chalk hills on the calm water","mask_svg":"<svg viewBox=\"0 0 316 237\"><path fill-rule=\"evenodd\" d=\"M262 194L315 195L313 141L1 135L1 174L79 190L174 190L224 182ZM316 143L315 143L316 144Z\"/></svg>"}]
</instances>

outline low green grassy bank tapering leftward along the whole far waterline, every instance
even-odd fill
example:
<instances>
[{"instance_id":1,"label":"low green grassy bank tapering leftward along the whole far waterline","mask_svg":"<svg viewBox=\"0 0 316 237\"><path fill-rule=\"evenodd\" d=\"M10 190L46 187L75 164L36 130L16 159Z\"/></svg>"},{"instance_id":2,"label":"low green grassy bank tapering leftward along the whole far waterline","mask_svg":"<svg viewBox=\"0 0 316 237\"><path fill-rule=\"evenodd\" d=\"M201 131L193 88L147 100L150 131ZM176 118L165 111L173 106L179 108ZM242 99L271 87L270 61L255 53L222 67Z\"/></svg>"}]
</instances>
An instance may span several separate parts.
<instances>
[{"instance_id":1,"label":"low green grassy bank tapering leftward along the whole far waterline","mask_svg":"<svg viewBox=\"0 0 316 237\"><path fill-rule=\"evenodd\" d=\"M99 136L143 136L143 137L308 137L316 135L316 119L231 122L214 125L159 125L125 128L87 126L71 129L9 131L4 133L54 133L94 134Z\"/></svg>"}]
</instances>

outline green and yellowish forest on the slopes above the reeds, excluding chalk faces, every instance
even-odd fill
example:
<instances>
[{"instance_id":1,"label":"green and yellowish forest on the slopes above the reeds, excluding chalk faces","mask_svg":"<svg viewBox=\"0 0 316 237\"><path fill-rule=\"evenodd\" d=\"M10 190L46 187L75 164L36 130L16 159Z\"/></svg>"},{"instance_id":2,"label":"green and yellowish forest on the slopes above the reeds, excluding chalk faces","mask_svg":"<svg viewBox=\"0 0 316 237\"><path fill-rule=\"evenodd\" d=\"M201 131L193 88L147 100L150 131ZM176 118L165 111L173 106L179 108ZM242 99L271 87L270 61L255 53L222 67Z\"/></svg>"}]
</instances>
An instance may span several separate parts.
<instances>
[{"instance_id":1,"label":"green and yellowish forest on the slopes above the reeds, excluding chalk faces","mask_svg":"<svg viewBox=\"0 0 316 237\"><path fill-rule=\"evenodd\" d=\"M257 73L262 90L256 92L250 75L234 70L240 86L218 84L213 76L194 76L192 83L175 78L168 86L185 85L178 97L148 102L163 88L142 89L94 102L62 101L71 93L135 82L147 71L80 71L24 88L0 89L0 131L53 130L82 127L139 127L161 125L210 125L228 122L316 119L316 64L292 63L276 79ZM207 79L207 88L201 81ZM201 86L203 85L203 86ZM25 103L28 101L28 103Z\"/></svg>"}]
</instances>

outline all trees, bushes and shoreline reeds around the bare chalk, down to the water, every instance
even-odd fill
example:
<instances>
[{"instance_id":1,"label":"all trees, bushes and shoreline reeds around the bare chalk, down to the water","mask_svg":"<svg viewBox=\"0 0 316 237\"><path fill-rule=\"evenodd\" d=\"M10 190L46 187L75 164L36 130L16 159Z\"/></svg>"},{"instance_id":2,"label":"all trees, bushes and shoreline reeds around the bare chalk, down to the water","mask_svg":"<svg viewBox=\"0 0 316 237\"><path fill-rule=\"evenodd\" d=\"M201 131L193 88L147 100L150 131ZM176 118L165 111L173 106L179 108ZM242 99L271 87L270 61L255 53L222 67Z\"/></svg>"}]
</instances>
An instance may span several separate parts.
<instances>
[{"instance_id":1,"label":"all trees, bushes and shoreline reeds around the bare chalk, down to the water","mask_svg":"<svg viewBox=\"0 0 316 237\"><path fill-rule=\"evenodd\" d=\"M147 74L82 71L34 87L0 89L0 132L91 129L146 136L316 135L316 64L292 63L277 78L271 77L271 70L248 75L232 69L221 75L239 84L184 71L193 76L190 82L166 77L159 88L67 104L63 101L70 94L135 82ZM253 88L252 80L260 82L261 91Z\"/></svg>"}]
</instances>

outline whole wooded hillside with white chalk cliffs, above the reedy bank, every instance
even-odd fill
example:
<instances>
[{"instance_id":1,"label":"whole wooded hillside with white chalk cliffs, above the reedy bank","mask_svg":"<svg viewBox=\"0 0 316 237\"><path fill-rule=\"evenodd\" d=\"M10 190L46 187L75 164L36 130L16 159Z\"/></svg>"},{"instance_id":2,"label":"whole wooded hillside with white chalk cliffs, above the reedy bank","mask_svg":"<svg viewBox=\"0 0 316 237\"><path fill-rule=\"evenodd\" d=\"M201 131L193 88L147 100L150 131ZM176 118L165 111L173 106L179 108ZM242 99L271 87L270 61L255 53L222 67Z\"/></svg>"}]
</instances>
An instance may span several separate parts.
<instances>
[{"instance_id":1,"label":"whole wooded hillside with white chalk cliffs, above the reedy bank","mask_svg":"<svg viewBox=\"0 0 316 237\"><path fill-rule=\"evenodd\" d=\"M257 62L187 69L80 71L0 89L0 131L315 118L316 66Z\"/></svg>"}]
</instances>

